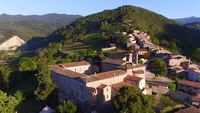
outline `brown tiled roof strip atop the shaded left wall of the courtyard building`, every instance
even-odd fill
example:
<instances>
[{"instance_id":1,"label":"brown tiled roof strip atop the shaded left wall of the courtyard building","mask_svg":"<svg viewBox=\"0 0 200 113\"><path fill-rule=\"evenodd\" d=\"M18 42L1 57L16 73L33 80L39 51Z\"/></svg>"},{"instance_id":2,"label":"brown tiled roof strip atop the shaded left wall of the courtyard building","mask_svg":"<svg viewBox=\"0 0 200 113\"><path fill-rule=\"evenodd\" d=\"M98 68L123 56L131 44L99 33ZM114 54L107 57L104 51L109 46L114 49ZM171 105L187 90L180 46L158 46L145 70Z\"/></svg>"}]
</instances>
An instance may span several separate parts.
<instances>
[{"instance_id":1,"label":"brown tiled roof strip atop the shaded left wall of the courtyard building","mask_svg":"<svg viewBox=\"0 0 200 113\"><path fill-rule=\"evenodd\" d=\"M51 67L52 67L53 72L55 72L59 75L62 75L62 76L66 76L66 77L70 77L70 78L79 78L79 77L82 77L82 76L86 76L84 74L80 74L80 73L76 73L76 72L73 72L73 71L70 71L70 70L66 70L59 65L54 65L54 66L51 66Z\"/></svg>"}]
</instances>

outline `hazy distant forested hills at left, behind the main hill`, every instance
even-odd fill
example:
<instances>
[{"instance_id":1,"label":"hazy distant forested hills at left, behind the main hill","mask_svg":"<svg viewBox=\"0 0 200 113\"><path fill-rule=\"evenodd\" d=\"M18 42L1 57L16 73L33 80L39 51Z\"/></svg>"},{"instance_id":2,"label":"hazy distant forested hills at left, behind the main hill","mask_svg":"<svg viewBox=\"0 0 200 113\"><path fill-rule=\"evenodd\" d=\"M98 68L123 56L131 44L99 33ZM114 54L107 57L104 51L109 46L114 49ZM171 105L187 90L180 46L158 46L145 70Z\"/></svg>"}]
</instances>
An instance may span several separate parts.
<instances>
[{"instance_id":1,"label":"hazy distant forested hills at left, behind the main hill","mask_svg":"<svg viewBox=\"0 0 200 113\"><path fill-rule=\"evenodd\" d=\"M0 41L18 35L25 40L32 37L43 37L54 30L67 25L79 15L47 14L47 15L0 15Z\"/></svg>"}]
</instances>

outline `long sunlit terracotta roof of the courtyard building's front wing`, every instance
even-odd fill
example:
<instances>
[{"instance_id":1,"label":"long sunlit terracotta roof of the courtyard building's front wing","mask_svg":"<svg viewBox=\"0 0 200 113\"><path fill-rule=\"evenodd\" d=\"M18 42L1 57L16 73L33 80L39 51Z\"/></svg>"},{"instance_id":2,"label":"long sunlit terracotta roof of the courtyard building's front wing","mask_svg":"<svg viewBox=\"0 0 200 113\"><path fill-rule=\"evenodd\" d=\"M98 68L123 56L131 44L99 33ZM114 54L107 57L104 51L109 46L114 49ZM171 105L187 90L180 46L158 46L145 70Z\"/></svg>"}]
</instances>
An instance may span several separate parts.
<instances>
[{"instance_id":1,"label":"long sunlit terracotta roof of the courtyard building's front wing","mask_svg":"<svg viewBox=\"0 0 200 113\"><path fill-rule=\"evenodd\" d=\"M87 77L82 77L81 79L84 80L85 82L93 82L93 81L103 80L107 78L112 78L115 76L121 76L124 74L126 74L124 70L117 69L117 70L112 70L108 72L97 73L95 75L90 75Z\"/></svg>"}]
</instances>

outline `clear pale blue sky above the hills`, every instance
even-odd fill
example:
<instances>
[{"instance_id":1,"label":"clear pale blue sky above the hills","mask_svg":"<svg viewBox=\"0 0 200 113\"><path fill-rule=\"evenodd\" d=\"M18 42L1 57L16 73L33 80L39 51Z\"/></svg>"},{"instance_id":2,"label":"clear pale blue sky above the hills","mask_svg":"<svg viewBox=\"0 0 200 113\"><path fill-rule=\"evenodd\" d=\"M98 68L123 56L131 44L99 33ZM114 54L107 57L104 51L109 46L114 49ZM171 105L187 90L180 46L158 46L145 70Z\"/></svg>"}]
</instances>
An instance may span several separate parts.
<instances>
[{"instance_id":1,"label":"clear pale blue sky above the hills","mask_svg":"<svg viewBox=\"0 0 200 113\"><path fill-rule=\"evenodd\" d=\"M0 0L0 13L88 15L122 5L136 5L169 18L200 17L200 0Z\"/></svg>"}]
</instances>

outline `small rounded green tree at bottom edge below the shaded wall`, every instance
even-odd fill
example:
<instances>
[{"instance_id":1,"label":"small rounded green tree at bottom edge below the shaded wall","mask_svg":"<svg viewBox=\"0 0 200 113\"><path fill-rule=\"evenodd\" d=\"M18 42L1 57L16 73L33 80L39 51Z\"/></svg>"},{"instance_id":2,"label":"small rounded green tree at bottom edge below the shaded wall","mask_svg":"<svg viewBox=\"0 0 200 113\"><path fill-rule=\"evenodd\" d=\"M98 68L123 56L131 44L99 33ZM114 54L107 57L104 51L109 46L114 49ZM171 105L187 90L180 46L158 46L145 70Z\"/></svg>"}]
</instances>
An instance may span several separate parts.
<instances>
[{"instance_id":1,"label":"small rounded green tree at bottom edge below the shaded wall","mask_svg":"<svg viewBox=\"0 0 200 113\"><path fill-rule=\"evenodd\" d=\"M58 113L76 113L77 107L71 101L64 101L57 107Z\"/></svg>"}]
</instances>

